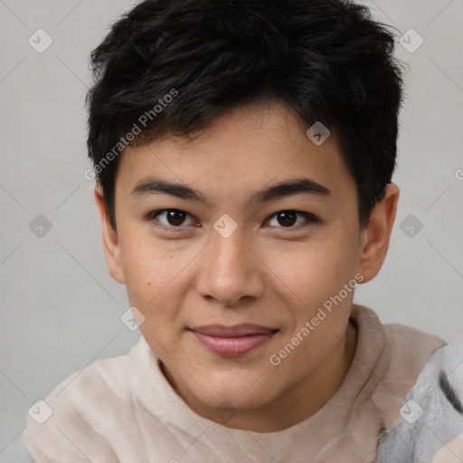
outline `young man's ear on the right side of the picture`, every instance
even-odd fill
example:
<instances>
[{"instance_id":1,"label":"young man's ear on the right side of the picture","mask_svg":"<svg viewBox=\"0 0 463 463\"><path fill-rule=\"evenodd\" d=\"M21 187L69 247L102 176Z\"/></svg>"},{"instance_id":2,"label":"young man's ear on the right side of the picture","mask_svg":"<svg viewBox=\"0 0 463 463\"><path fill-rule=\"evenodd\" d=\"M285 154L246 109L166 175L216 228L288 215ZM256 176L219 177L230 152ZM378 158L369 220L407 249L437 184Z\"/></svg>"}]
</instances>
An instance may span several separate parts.
<instances>
[{"instance_id":1,"label":"young man's ear on the right side of the picture","mask_svg":"<svg viewBox=\"0 0 463 463\"><path fill-rule=\"evenodd\" d=\"M362 245L358 273L364 277L362 283L373 279L383 266L397 213L399 195L399 187L396 184L388 184L383 200L374 206L370 222L361 232Z\"/></svg>"}]
</instances>

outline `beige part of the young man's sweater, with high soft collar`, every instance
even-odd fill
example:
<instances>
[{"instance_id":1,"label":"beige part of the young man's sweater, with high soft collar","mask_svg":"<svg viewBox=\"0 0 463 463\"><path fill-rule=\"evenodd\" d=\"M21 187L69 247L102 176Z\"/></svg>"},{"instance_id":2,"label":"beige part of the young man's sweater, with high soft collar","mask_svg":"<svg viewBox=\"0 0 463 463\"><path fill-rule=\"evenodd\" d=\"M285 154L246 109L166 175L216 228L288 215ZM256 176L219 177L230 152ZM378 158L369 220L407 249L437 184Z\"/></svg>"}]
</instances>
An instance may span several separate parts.
<instances>
[{"instance_id":1,"label":"beige part of the young man's sweater, with high soft collar","mask_svg":"<svg viewBox=\"0 0 463 463\"><path fill-rule=\"evenodd\" d=\"M401 419L405 395L446 343L383 325L368 307L354 305L351 319L357 345L345 381L321 410L287 430L232 430L202 418L166 381L142 336L128 354L58 385L35 417L27 415L24 445L36 463L371 463L380 431ZM48 407L51 416L38 424Z\"/></svg>"}]
</instances>

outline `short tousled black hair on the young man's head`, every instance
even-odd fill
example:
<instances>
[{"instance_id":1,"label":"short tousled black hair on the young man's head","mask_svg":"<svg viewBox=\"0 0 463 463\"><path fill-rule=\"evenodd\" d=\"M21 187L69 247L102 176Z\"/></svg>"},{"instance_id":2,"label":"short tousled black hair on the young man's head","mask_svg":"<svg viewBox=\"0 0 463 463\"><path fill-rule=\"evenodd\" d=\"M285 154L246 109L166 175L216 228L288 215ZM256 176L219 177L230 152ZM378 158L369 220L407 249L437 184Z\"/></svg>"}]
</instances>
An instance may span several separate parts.
<instances>
[{"instance_id":1,"label":"short tousled black hair on the young man's head","mask_svg":"<svg viewBox=\"0 0 463 463\"><path fill-rule=\"evenodd\" d=\"M392 27L347 0L145 0L91 52L89 156L116 230L125 146L189 136L236 107L284 103L335 130L364 228L396 165L402 61Z\"/></svg>"}]
</instances>

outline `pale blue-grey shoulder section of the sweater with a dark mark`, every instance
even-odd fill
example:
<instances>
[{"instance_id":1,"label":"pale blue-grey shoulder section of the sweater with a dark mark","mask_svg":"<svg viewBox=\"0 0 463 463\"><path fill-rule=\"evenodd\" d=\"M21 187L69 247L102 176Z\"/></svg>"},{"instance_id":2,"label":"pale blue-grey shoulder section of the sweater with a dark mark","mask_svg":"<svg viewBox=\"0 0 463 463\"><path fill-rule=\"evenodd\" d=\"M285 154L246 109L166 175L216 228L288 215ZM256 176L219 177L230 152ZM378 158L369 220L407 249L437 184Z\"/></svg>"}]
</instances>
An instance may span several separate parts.
<instances>
[{"instance_id":1,"label":"pale blue-grey shoulder section of the sweater with a dark mark","mask_svg":"<svg viewBox=\"0 0 463 463\"><path fill-rule=\"evenodd\" d=\"M400 414L380 439L377 463L463 460L463 343L430 355Z\"/></svg>"}]
</instances>

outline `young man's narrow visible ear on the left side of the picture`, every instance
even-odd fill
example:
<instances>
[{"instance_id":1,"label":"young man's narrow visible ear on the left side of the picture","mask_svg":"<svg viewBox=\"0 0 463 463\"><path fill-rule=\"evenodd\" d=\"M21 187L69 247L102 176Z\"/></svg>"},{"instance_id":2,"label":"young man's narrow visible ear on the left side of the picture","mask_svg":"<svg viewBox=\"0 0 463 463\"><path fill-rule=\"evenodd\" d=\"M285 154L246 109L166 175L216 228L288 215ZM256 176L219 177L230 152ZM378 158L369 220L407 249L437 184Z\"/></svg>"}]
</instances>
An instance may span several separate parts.
<instances>
[{"instance_id":1,"label":"young man's narrow visible ear on the left side of the picture","mask_svg":"<svg viewBox=\"0 0 463 463\"><path fill-rule=\"evenodd\" d=\"M118 233L109 223L108 211L103 200L102 188L100 184L95 185L93 191L95 202L99 209L99 218L101 219L101 231L103 235L103 250L105 252L106 261L108 262L109 275L124 284L124 272L122 271L122 263L120 260L120 248L118 244Z\"/></svg>"}]
</instances>

